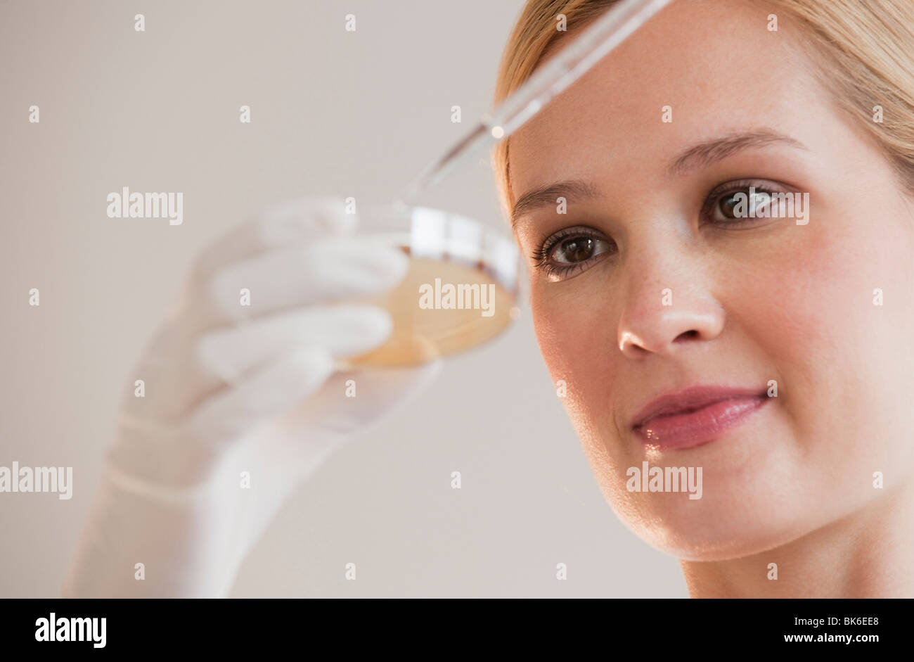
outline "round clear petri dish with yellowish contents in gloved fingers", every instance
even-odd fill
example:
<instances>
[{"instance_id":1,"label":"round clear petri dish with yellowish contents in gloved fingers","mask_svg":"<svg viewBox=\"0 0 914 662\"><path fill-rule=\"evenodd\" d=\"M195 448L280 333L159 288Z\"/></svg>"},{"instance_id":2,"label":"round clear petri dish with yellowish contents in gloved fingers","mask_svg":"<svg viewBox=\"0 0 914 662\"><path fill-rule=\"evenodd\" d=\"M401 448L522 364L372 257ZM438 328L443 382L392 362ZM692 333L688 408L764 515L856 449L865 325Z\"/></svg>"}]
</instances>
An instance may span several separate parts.
<instances>
[{"instance_id":1,"label":"round clear petri dish with yellowish contents in gloved fingers","mask_svg":"<svg viewBox=\"0 0 914 662\"><path fill-rule=\"evenodd\" d=\"M381 347L337 359L337 368L415 366L479 347L519 314L521 260L503 232L450 211L405 204L359 212L360 241L393 246L409 256L397 287L348 303L375 304L393 320Z\"/></svg>"}]
</instances>

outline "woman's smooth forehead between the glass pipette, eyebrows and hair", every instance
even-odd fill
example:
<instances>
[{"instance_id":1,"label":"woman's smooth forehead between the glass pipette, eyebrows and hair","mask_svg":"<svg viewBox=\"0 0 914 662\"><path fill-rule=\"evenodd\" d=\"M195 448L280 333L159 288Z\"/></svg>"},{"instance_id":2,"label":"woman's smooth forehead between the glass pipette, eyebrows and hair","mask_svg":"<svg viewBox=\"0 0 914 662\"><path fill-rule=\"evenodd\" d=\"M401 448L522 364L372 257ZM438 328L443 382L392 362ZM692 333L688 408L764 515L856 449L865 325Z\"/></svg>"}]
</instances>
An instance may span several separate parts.
<instances>
[{"instance_id":1,"label":"woman's smooth forehead between the glass pipette, eyebrows and hair","mask_svg":"<svg viewBox=\"0 0 914 662\"><path fill-rule=\"evenodd\" d=\"M764 126L806 142L824 91L793 41L802 35L787 16L770 31L771 11L674 0L511 136L515 198L560 179L659 173L721 133Z\"/></svg>"}]
</instances>

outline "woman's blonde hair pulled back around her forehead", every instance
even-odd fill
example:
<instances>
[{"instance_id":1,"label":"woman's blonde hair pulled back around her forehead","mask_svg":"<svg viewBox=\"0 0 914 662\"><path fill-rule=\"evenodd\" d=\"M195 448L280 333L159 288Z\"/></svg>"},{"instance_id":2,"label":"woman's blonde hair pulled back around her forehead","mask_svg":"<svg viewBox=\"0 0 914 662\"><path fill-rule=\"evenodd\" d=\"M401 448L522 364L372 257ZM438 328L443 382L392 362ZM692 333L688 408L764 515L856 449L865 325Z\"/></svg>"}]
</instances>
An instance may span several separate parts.
<instances>
[{"instance_id":1,"label":"woman's blonde hair pulled back around her forehead","mask_svg":"<svg viewBox=\"0 0 914 662\"><path fill-rule=\"evenodd\" d=\"M556 45L619 0L528 0L505 46L494 102L524 83ZM675 0L674 0L675 1ZM813 60L837 107L866 127L914 194L914 2L911 0L766 0L802 30L802 48ZM558 14L567 32L556 29ZM767 16L767 15L766 15ZM779 20L781 16L778 16ZM881 106L883 122L874 122ZM495 145L493 165L502 205L514 207L510 137Z\"/></svg>"}]
</instances>

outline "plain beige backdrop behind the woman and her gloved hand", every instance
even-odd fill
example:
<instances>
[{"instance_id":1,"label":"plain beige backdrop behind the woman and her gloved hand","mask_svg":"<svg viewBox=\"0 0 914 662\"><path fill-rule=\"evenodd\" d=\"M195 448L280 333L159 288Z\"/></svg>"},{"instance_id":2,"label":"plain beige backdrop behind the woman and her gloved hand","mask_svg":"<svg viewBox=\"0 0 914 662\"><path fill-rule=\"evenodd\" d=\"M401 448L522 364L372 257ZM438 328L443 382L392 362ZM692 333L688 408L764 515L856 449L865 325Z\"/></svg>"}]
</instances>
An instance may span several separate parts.
<instances>
[{"instance_id":1,"label":"plain beige backdrop behind the woman and her gloved hand","mask_svg":"<svg viewBox=\"0 0 914 662\"><path fill-rule=\"evenodd\" d=\"M0 2L0 465L74 467L70 501L0 494L0 596L58 595L119 389L194 253L277 200L393 198L488 109L520 6ZM183 191L184 224L108 219L125 186ZM487 158L422 201L504 222ZM522 307L325 464L232 594L685 597L678 563L603 501Z\"/></svg>"}]
</instances>

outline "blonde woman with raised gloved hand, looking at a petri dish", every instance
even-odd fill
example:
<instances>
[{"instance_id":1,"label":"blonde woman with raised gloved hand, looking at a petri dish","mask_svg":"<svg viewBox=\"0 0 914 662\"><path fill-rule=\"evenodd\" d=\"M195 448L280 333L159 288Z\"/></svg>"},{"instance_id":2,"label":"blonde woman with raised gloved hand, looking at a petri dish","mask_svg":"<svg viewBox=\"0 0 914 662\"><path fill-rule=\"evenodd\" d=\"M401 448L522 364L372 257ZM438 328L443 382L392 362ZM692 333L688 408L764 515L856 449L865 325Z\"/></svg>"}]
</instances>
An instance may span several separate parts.
<instances>
[{"instance_id":1,"label":"blonde woman with raised gloved hand, looking at a petri dish","mask_svg":"<svg viewBox=\"0 0 914 662\"><path fill-rule=\"evenodd\" d=\"M613 4L531 0L496 101ZM695 597L914 595L912 30L902 0L675 0L496 151L594 475ZM197 261L65 594L227 593L292 486L428 383L340 397L332 359L389 320L323 304L404 269L341 254L351 219L294 203ZM234 326L250 283L271 294Z\"/></svg>"}]
</instances>

